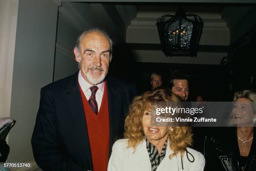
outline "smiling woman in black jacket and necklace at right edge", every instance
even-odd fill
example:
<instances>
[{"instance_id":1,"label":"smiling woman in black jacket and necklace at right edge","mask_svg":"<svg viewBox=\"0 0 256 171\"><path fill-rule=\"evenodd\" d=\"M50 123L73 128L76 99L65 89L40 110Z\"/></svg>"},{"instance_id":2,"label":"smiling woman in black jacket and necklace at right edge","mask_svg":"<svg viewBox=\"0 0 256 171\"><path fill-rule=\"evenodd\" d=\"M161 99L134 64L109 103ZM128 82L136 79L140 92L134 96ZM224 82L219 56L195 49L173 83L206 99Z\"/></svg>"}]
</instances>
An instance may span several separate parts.
<instances>
[{"instance_id":1,"label":"smiling woman in black jacket and necklace at right edge","mask_svg":"<svg viewBox=\"0 0 256 171\"><path fill-rule=\"evenodd\" d=\"M255 92L235 93L232 119L235 128L206 139L206 171L256 171Z\"/></svg>"}]
</instances>

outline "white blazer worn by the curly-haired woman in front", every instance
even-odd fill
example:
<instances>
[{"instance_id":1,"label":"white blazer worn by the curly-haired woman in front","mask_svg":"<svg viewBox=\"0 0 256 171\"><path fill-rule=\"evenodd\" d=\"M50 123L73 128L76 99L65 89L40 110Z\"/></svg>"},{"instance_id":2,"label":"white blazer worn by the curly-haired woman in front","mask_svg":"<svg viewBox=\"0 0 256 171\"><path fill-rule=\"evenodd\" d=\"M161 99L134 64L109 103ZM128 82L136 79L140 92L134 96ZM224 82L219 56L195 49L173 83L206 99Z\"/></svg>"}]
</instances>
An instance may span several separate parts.
<instances>
[{"instance_id":1,"label":"white blazer worn by the curly-haired woman in front","mask_svg":"<svg viewBox=\"0 0 256 171\"><path fill-rule=\"evenodd\" d=\"M112 148L112 154L108 163L108 171L151 171L151 163L146 148L146 140L140 143L136 151L133 153L133 148L127 148L128 139L117 140ZM195 161L192 163L193 158L190 154L187 159L186 152L181 160L180 153L174 156L172 160L169 159L169 155L173 151L167 145L166 154L164 160L161 161L156 171L203 171L205 167L205 158L192 148L187 148L187 151L191 153ZM182 161L183 168L182 170Z\"/></svg>"}]
</instances>

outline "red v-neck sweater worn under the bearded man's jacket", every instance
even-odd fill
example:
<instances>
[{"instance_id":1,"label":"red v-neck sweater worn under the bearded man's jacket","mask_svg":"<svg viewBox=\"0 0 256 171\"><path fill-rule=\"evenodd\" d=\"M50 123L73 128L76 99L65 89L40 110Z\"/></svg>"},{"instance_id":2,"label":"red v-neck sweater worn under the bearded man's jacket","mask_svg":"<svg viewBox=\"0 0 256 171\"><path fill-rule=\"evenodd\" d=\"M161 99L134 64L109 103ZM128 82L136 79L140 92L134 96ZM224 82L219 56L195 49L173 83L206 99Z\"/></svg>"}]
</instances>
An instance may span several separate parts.
<instances>
[{"instance_id":1,"label":"red v-neck sweater worn under the bearded man's jacket","mask_svg":"<svg viewBox=\"0 0 256 171\"><path fill-rule=\"evenodd\" d=\"M100 110L96 115L89 105L81 87L80 92L87 123L94 171L107 171L109 152L108 93L105 82Z\"/></svg>"}]
</instances>

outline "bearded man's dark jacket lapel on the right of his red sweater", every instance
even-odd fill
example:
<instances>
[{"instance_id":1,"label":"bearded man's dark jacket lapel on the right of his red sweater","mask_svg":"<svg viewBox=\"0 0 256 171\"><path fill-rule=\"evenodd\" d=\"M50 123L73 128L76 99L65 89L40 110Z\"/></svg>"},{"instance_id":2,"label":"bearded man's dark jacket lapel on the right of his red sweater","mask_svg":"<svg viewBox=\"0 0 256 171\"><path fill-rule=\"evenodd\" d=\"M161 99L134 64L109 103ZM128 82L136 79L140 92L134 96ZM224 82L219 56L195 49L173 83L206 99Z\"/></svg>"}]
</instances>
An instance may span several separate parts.
<instances>
[{"instance_id":1,"label":"bearded man's dark jacket lapel on the right of his red sweater","mask_svg":"<svg viewBox=\"0 0 256 171\"><path fill-rule=\"evenodd\" d=\"M108 115L109 115L109 129L110 129L110 143L109 143L109 157L112 153L112 146L115 142L117 132L120 125L121 116L121 94L116 89L116 85L111 84L111 80L107 79L108 91Z\"/></svg>"}]
</instances>

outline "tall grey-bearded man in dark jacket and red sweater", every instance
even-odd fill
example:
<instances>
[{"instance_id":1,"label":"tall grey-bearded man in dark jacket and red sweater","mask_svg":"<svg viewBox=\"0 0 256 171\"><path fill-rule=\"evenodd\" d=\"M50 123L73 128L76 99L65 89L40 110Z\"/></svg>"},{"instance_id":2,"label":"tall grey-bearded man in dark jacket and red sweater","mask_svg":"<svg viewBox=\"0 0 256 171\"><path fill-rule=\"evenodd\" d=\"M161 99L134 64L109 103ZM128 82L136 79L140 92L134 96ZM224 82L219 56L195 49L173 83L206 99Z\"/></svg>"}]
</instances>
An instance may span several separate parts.
<instances>
[{"instance_id":1,"label":"tall grey-bearded man in dark jacket and red sweater","mask_svg":"<svg viewBox=\"0 0 256 171\"><path fill-rule=\"evenodd\" d=\"M112 44L104 31L85 31L74 48L79 72L41 89L31 143L44 171L107 170L135 95L133 84L105 77Z\"/></svg>"}]
</instances>

